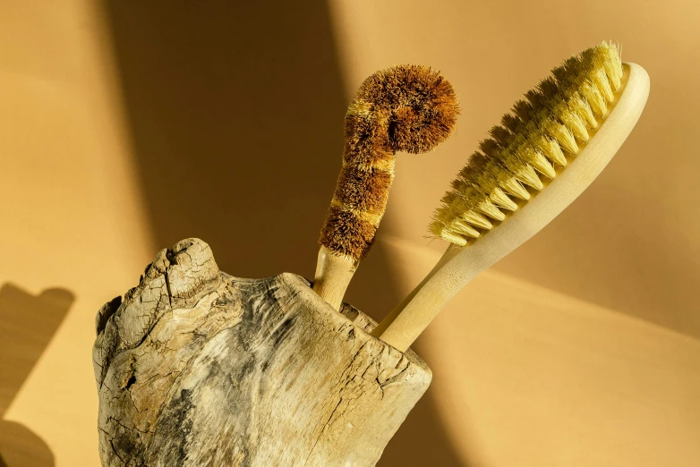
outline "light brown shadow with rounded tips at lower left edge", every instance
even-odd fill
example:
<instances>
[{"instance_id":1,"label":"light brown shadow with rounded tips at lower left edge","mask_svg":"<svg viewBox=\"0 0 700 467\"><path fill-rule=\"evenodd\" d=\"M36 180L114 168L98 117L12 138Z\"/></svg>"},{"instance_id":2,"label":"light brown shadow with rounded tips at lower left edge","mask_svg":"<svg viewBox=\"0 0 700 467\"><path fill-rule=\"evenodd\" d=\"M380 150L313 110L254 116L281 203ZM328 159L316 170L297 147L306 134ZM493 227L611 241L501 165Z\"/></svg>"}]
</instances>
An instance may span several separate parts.
<instances>
[{"instance_id":1,"label":"light brown shadow with rounded tips at lower left edge","mask_svg":"<svg viewBox=\"0 0 700 467\"><path fill-rule=\"evenodd\" d=\"M64 289L34 296L13 284L0 288L0 467L54 465L43 439L2 419L72 304L73 293Z\"/></svg>"}]
</instances>

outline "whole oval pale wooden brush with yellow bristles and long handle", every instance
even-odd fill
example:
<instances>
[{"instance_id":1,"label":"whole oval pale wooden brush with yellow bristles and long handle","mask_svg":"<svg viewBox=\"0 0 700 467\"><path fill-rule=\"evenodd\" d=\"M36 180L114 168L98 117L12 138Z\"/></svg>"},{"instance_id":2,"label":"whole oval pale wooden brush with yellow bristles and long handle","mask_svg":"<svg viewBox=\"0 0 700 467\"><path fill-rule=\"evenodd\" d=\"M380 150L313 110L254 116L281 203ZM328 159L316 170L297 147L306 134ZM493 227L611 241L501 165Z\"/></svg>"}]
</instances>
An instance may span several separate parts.
<instances>
[{"instance_id":1,"label":"whole oval pale wooden brush with yellow bristles and long handle","mask_svg":"<svg viewBox=\"0 0 700 467\"><path fill-rule=\"evenodd\" d=\"M539 232L610 162L634 128L649 76L602 42L552 70L491 129L430 225L451 242L372 335L405 351L474 276ZM467 244L467 242L469 244Z\"/></svg>"}]
</instances>

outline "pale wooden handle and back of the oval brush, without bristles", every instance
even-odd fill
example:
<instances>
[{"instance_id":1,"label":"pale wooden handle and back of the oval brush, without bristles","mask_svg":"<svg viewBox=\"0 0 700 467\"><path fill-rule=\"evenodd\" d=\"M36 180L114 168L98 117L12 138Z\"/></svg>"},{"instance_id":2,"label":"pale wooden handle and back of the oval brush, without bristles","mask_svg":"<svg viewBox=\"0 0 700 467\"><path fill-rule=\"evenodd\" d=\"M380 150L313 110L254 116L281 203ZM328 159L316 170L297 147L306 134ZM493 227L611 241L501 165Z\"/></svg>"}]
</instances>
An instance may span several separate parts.
<instances>
[{"instance_id":1,"label":"pale wooden handle and back of the oval brush, without bristles","mask_svg":"<svg viewBox=\"0 0 700 467\"><path fill-rule=\"evenodd\" d=\"M590 185L634 128L649 95L649 75L623 64L623 85L610 113L576 158L525 205L482 238L450 245L442 259L372 335L405 351L445 304L474 276L542 230Z\"/></svg>"}]
</instances>

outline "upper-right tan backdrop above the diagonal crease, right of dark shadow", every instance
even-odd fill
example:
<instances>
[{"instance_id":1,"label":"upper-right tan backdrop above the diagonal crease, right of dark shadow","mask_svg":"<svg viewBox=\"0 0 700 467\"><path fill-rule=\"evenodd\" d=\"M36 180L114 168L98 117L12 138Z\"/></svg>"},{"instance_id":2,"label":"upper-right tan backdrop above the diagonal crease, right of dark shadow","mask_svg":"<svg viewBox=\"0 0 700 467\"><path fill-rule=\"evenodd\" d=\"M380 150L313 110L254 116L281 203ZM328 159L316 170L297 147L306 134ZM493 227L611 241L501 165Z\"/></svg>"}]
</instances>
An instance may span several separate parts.
<instances>
[{"instance_id":1,"label":"upper-right tan backdrop above the diagonal crease, right of dark shadow","mask_svg":"<svg viewBox=\"0 0 700 467\"><path fill-rule=\"evenodd\" d=\"M652 91L635 132L593 186L497 269L700 337L700 158L689 135L700 96L700 4L336 2L348 89L388 64L424 63L452 81L457 134L434 154L397 159L384 231L423 242L426 219L486 131L568 55L618 40ZM633 6L634 5L634 6ZM418 27L418 24L421 24ZM441 249L438 242L434 246Z\"/></svg>"}]
</instances>

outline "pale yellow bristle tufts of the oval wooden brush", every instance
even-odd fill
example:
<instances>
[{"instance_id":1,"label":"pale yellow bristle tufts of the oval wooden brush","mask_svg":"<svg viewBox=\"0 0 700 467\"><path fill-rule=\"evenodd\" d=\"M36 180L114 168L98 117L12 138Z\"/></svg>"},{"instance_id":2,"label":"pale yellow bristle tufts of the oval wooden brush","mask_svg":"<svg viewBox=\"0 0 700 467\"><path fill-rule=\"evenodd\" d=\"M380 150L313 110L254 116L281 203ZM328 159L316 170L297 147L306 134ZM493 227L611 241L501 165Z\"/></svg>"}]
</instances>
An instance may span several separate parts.
<instances>
[{"instance_id":1,"label":"pale yellow bristle tufts of the oval wooden brush","mask_svg":"<svg viewBox=\"0 0 700 467\"><path fill-rule=\"evenodd\" d=\"M569 57L518 100L451 183L431 233L464 246L502 221L568 165L608 113L621 86L619 46L602 42ZM529 190L528 188L529 187ZM481 229L481 230L477 230Z\"/></svg>"}]
</instances>

